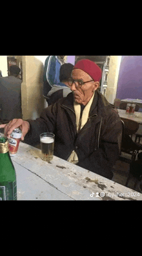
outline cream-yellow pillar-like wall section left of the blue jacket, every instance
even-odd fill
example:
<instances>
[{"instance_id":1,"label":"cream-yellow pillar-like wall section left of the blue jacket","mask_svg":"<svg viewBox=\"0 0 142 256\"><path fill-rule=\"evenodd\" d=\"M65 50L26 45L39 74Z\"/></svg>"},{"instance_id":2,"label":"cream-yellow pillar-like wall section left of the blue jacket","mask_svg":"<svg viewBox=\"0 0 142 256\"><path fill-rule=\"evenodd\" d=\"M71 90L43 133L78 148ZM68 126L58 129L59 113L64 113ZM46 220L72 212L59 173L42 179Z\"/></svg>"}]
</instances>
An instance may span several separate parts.
<instances>
[{"instance_id":1,"label":"cream-yellow pillar-like wall section left of the blue jacket","mask_svg":"<svg viewBox=\"0 0 142 256\"><path fill-rule=\"evenodd\" d=\"M23 83L21 84L23 119L38 118L44 109L43 70L41 60L23 56Z\"/></svg>"}]
</instances>

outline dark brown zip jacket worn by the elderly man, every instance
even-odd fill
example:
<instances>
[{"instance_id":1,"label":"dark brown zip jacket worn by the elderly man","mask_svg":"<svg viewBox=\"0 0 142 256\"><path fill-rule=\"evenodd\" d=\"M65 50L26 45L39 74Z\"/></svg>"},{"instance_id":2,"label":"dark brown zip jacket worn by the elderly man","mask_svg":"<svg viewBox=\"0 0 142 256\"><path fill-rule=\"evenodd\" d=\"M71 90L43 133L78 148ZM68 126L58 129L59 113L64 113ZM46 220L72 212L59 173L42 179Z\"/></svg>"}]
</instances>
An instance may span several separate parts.
<instances>
[{"instance_id":1,"label":"dark brown zip jacket worn by the elderly man","mask_svg":"<svg viewBox=\"0 0 142 256\"><path fill-rule=\"evenodd\" d=\"M41 133L54 133L54 155L67 160L75 150L78 166L112 179L112 166L121 149L122 124L117 112L100 92L96 92L88 122L79 133L72 93L43 110L37 120L27 121L30 131L25 136L26 143L37 144Z\"/></svg>"}]
</instances>

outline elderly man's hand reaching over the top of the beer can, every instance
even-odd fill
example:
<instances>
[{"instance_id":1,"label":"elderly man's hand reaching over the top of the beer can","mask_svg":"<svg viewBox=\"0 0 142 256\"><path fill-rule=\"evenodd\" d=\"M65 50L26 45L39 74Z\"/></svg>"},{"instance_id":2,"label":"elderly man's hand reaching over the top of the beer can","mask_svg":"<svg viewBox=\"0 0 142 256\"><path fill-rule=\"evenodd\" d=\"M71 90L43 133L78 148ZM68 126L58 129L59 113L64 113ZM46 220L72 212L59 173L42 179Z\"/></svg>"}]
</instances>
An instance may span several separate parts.
<instances>
[{"instance_id":1,"label":"elderly man's hand reaching over the top of the beer can","mask_svg":"<svg viewBox=\"0 0 142 256\"><path fill-rule=\"evenodd\" d=\"M21 140L24 140L26 133L30 130L30 123L23 121L22 119L14 119L5 125L0 125L0 128L5 128L4 134L7 138L10 138L10 134L15 128L19 127L22 131Z\"/></svg>"}]
</instances>

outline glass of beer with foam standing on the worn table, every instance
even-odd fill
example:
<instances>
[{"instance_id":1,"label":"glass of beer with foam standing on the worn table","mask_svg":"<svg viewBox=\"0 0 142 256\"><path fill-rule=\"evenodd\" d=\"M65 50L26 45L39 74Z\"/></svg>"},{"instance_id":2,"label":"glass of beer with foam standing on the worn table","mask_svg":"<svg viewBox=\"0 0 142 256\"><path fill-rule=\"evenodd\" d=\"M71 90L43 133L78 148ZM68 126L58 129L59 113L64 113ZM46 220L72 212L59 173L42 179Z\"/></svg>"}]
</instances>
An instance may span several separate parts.
<instances>
[{"instance_id":1,"label":"glass of beer with foam standing on the worn table","mask_svg":"<svg viewBox=\"0 0 142 256\"><path fill-rule=\"evenodd\" d=\"M45 160L46 162L50 162L50 160L53 159L54 139L55 135L53 133L42 133L40 135L42 153L41 159Z\"/></svg>"}]
</instances>

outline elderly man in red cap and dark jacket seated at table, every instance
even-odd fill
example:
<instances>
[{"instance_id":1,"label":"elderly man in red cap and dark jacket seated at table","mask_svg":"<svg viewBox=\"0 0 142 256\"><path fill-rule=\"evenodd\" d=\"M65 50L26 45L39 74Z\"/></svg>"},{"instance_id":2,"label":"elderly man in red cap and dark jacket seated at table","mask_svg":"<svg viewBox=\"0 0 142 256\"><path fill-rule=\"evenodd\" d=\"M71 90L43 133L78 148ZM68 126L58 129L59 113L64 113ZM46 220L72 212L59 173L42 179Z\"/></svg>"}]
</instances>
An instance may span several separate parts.
<instances>
[{"instance_id":1,"label":"elderly man in red cap and dark jacket seated at table","mask_svg":"<svg viewBox=\"0 0 142 256\"><path fill-rule=\"evenodd\" d=\"M68 80L72 92L67 97L43 110L36 120L12 120L0 127L5 127L5 136L20 127L21 140L28 144L39 143L41 133L54 133L54 155L112 179L122 125L117 112L97 91L100 79L101 70L94 62L80 60Z\"/></svg>"}]
</instances>

